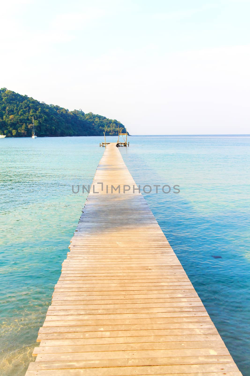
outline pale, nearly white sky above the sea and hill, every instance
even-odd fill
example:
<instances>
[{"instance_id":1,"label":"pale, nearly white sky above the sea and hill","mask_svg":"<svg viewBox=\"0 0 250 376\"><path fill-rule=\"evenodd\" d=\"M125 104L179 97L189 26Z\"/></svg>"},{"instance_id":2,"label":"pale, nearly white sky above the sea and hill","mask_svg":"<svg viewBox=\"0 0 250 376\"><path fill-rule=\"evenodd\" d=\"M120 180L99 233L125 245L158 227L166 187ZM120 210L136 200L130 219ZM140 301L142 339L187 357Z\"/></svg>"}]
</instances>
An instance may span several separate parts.
<instances>
[{"instance_id":1,"label":"pale, nearly white sky above the sea and hill","mask_svg":"<svg viewBox=\"0 0 250 376\"><path fill-rule=\"evenodd\" d=\"M0 85L133 134L250 133L250 0L5 0Z\"/></svg>"}]
</instances>

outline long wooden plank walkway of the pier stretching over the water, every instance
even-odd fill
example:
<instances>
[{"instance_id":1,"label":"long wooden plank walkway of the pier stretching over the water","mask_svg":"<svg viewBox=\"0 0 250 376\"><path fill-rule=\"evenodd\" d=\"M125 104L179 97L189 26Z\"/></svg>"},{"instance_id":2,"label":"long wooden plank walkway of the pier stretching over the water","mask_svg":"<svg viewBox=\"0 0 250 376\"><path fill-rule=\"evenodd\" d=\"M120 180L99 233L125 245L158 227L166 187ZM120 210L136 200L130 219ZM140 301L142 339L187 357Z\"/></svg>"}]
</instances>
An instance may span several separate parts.
<instances>
[{"instance_id":1,"label":"long wooden plank walkway of the pier stretching over the water","mask_svg":"<svg viewBox=\"0 0 250 376\"><path fill-rule=\"evenodd\" d=\"M115 143L93 184L26 376L241 376Z\"/></svg>"}]
</instances>

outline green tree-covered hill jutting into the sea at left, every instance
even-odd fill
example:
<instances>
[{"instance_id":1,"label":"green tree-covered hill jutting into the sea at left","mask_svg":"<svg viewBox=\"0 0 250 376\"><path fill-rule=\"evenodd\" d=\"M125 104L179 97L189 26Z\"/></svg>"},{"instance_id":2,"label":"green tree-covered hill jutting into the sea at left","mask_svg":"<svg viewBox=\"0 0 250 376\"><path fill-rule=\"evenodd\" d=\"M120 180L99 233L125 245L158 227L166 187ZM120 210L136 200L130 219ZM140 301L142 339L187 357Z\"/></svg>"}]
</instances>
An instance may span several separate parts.
<instances>
[{"instance_id":1,"label":"green tree-covered hill jutting into the sea at left","mask_svg":"<svg viewBox=\"0 0 250 376\"><path fill-rule=\"evenodd\" d=\"M106 135L117 135L117 120L111 120L92 112L69 111L55 105L47 105L27 95L20 95L6 88L0 89L0 134L7 137L31 137L32 118L35 133L45 136L99 136L108 126Z\"/></svg>"}]
</instances>

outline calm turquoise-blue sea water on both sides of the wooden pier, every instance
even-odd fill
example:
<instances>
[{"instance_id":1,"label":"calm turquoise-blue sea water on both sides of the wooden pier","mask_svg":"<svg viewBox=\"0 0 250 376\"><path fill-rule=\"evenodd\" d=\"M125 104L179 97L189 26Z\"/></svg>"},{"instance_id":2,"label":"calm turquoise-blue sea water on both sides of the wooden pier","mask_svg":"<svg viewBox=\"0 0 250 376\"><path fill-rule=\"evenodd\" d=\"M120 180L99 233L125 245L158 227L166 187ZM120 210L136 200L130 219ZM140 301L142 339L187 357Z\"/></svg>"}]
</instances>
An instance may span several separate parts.
<instances>
[{"instance_id":1,"label":"calm turquoise-blue sea water on both sides of the wooden pier","mask_svg":"<svg viewBox=\"0 0 250 376\"><path fill-rule=\"evenodd\" d=\"M116 137L110 138L115 142ZM0 140L1 374L24 375L104 151L100 137ZM244 376L250 375L250 136L130 136L136 183ZM220 256L221 258L214 258Z\"/></svg>"}]
</instances>

